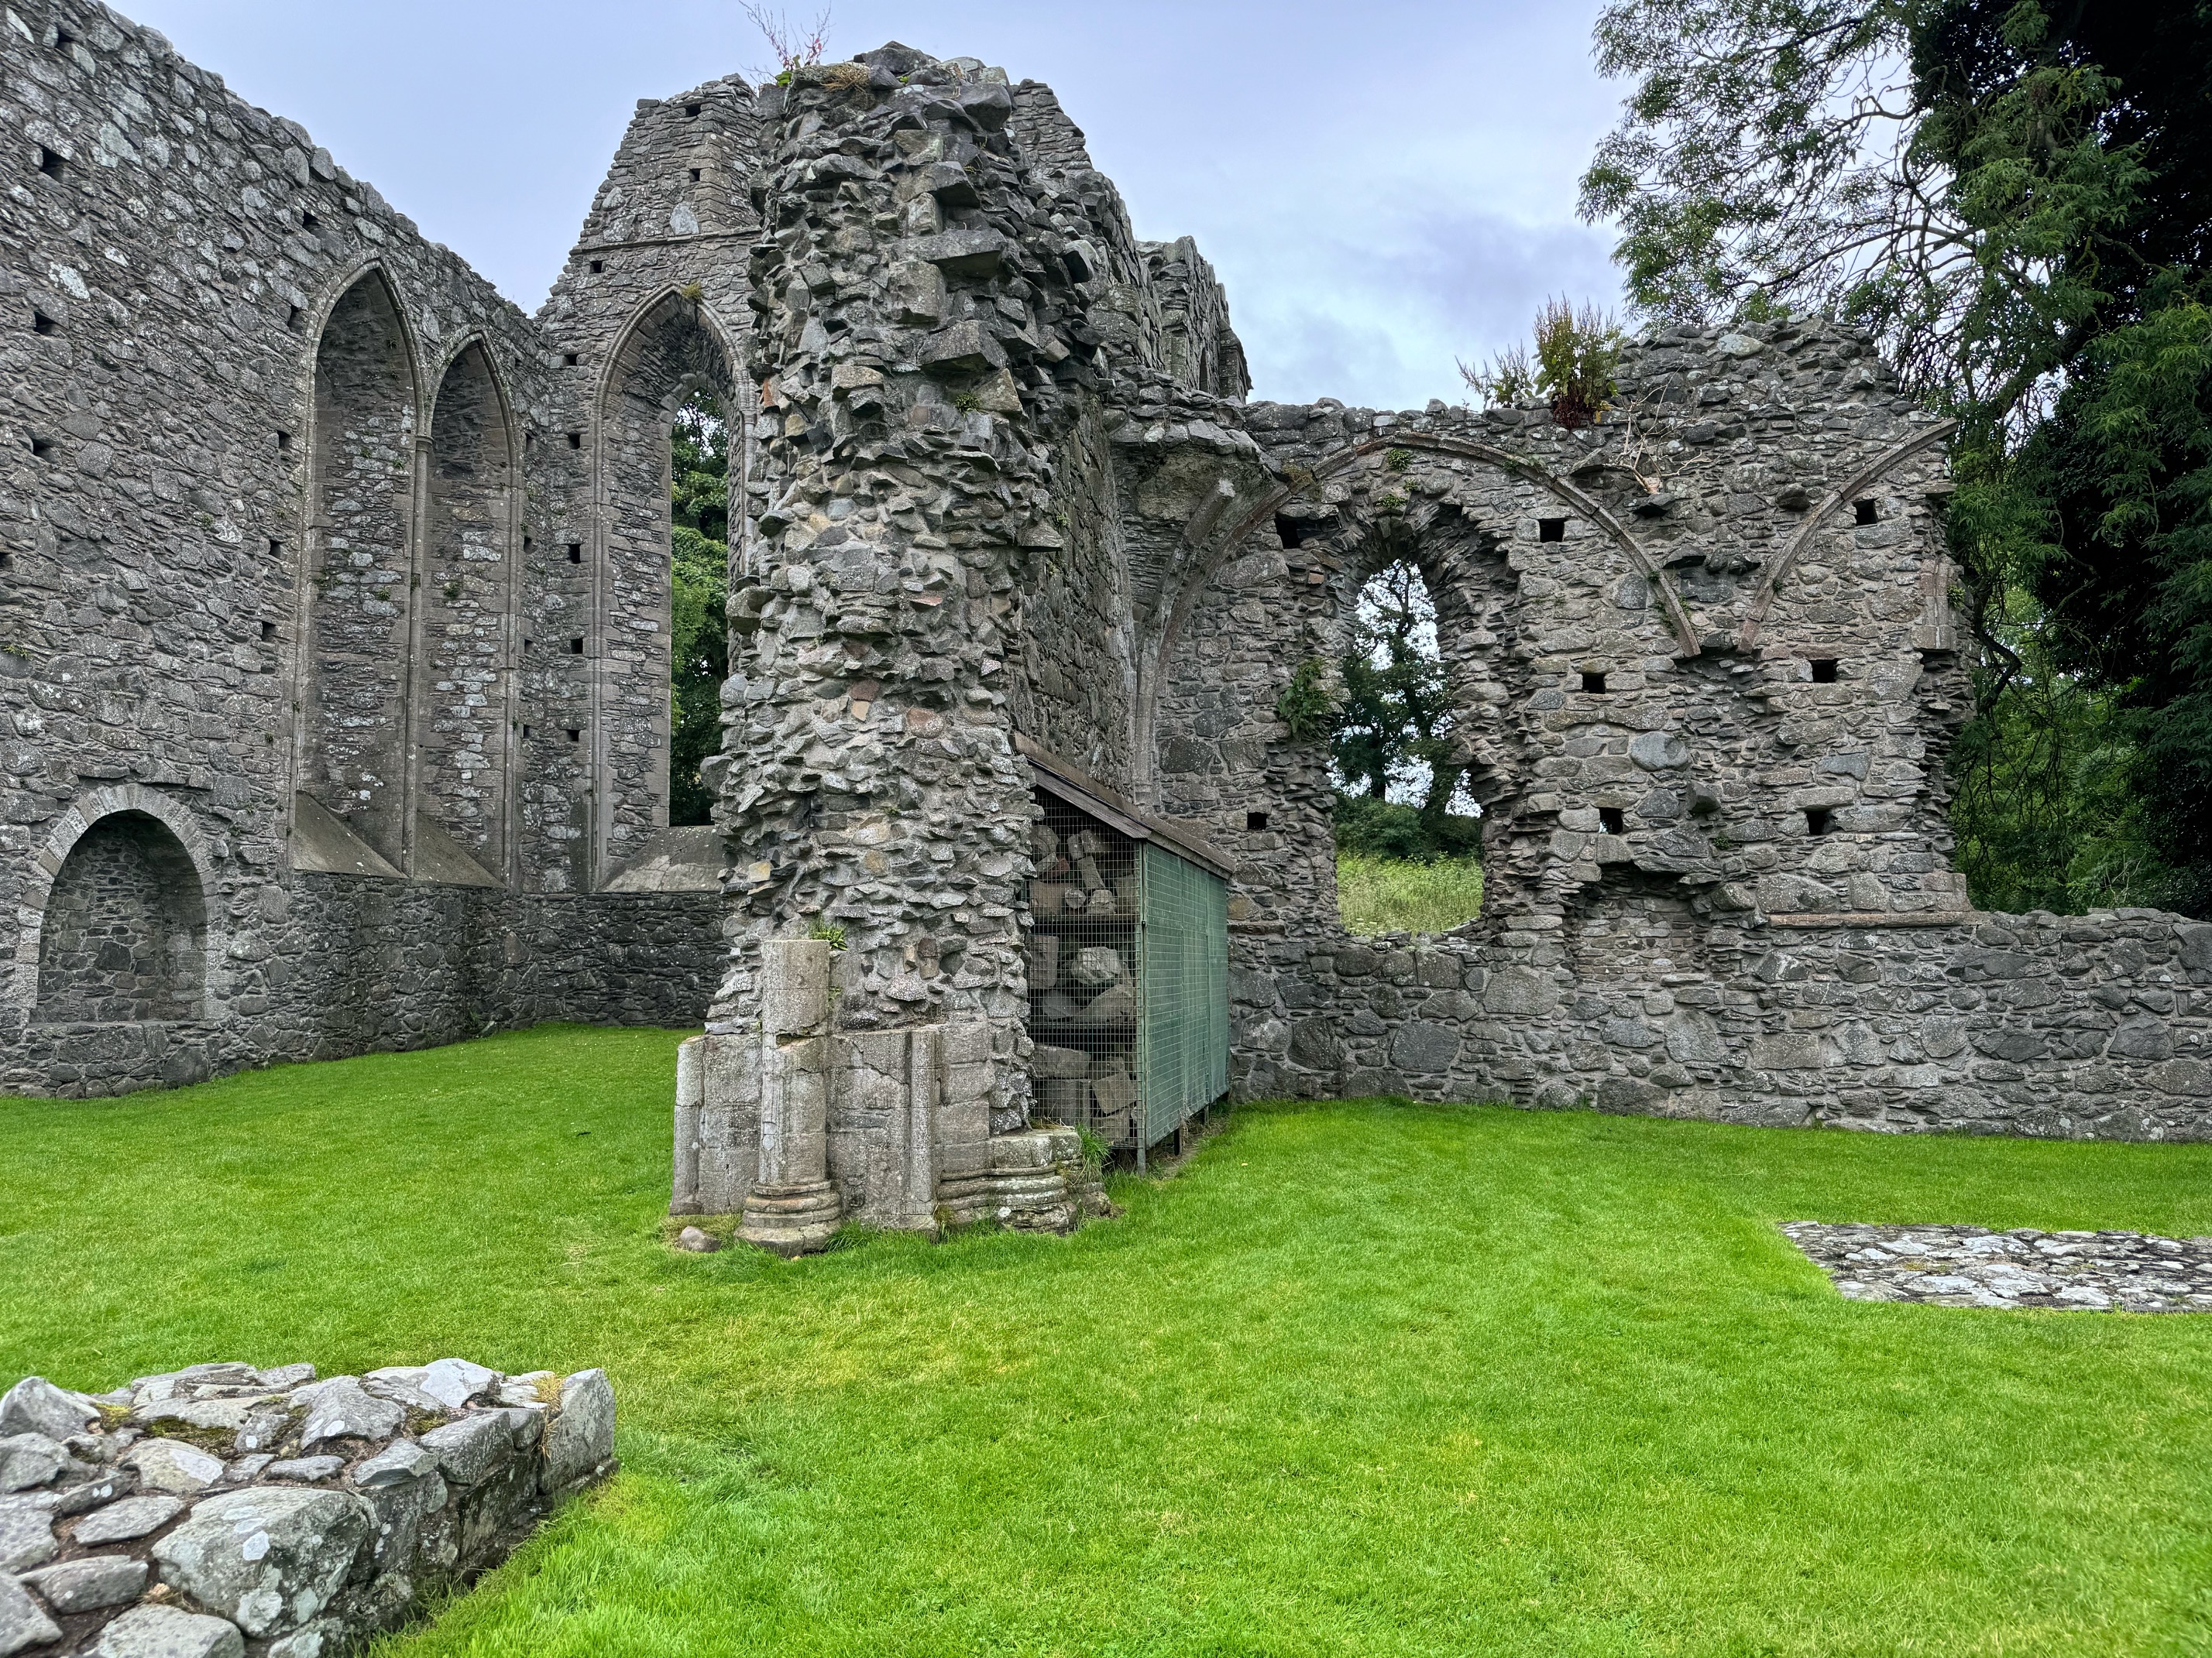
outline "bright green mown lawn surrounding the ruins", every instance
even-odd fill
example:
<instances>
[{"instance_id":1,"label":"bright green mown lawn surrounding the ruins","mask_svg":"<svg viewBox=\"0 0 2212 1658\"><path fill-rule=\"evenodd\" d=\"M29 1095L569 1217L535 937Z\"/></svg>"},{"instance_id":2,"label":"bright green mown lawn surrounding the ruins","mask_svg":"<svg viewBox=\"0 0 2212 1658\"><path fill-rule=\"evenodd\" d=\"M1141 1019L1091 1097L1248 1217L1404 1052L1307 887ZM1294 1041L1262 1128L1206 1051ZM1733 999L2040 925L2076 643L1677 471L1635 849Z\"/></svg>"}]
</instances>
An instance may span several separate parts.
<instances>
[{"instance_id":1,"label":"bright green mown lawn surrounding the ruins","mask_svg":"<svg viewBox=\"0 0 2212 1658\"><path fill-rule=\"evenodd\" d=\"M0 1101L0 1384L604 1364L624 1472L389 1658L2205 1654L2212 1318L1776 1220L2212 1231L2212 1147L1256 1108L1075 1238L679 1256L670 1032Z\"/></svg>"}]
</instances>

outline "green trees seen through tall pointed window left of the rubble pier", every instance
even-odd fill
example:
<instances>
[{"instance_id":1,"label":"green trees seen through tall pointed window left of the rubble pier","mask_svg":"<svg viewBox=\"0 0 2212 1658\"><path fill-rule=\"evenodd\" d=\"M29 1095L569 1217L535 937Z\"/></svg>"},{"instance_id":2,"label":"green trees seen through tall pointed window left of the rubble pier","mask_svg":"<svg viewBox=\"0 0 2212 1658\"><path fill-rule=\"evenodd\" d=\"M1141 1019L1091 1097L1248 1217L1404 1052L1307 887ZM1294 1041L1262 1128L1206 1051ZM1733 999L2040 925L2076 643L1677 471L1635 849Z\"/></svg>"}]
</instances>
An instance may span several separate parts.
<instances>
[{"instance_id":1,"label":"green trees seen through tall pointed window left of the rubble pier","mask_svg":"<svg viewBox=\"0 0 2212 1658\"><path fill-rule=\"evenodd\" d=\"M721 681L730 674L730 429L712 396L677 411L670 478L668 822L712 822L699 763L721 752Z\"/></svg>"}]
</instances>

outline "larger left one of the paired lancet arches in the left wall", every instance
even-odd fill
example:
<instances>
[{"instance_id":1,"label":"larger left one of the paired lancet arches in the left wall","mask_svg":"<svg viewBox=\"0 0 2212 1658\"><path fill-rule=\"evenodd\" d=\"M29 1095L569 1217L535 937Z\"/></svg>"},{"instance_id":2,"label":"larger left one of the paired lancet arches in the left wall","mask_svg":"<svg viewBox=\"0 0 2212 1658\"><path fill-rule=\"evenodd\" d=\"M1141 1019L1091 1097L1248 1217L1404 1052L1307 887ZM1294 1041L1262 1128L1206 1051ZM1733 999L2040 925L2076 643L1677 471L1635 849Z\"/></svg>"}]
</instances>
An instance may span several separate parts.
<instances>
[{"instance_id":1,"label":"larger left one of the paired lancet arches in the left wall","mask_svg":"<svg viewBox=\"0 0 2212 1658\"><path fill-rule=\"evenodd\" d=\"M296 776L396 867L409 844L418 436L414 336L372 263L316 336Z\"/></svg>"}]
</instances>

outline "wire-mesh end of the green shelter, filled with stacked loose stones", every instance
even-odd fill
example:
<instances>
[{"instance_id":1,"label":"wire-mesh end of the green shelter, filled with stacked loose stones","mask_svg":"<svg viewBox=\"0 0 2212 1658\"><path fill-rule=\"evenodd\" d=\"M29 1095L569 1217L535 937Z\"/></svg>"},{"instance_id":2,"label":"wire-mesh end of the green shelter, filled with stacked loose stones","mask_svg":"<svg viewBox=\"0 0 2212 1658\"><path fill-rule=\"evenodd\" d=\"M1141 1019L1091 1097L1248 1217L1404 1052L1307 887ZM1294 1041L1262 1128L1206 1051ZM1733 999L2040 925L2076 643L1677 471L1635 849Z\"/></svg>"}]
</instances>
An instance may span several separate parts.
<instances>
[{"instance_id":1,"label":"wire-mesh end of the green shelter, filled with stacked loose stones","mask_svg":"<svg viewBox=\"0 0 2212 1658\"><path fill-rule=\"evenodd\" d=\"M1029 886L1031 1119L1137 1145L1137 842L1040 794Z\"/></svg>"}]
</instances>

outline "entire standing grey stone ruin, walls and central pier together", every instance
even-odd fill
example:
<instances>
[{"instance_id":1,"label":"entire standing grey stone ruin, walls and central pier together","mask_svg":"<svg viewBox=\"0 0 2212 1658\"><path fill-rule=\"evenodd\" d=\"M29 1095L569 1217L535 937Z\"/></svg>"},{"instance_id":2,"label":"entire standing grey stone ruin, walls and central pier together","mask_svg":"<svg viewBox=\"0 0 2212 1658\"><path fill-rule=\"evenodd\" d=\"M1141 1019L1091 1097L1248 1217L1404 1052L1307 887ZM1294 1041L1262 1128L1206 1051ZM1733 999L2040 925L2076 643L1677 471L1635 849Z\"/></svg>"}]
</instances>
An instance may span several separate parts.
<instances>
[{"instance_id":1,"label":"entire standing grey stone ruin, walls and central pier together","mask_svg":"<svg viewBox=\"0 0 2212 1658\"><path fill-rule=\"evenodd\" d=\"M1022 738L1237 864L1245 1094L2205 1134L2212 928L1980 915L1949 864L1947 427L1854 332L1655 334L1582 431L1245 402L1051 91L896 44L641 104L522 318L155 35L11 15L9 1088L706 1012L677 1209L1057 1225ZM697 389L712 831L666 827ZM1352 940L1276 705L1400 557L1486 911Z\"/></svg>"}]
</instances>

